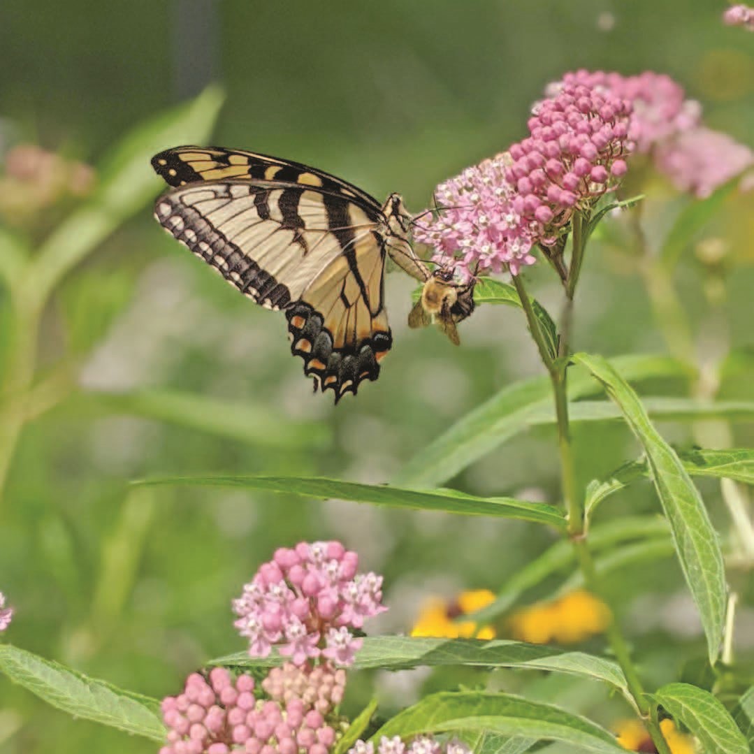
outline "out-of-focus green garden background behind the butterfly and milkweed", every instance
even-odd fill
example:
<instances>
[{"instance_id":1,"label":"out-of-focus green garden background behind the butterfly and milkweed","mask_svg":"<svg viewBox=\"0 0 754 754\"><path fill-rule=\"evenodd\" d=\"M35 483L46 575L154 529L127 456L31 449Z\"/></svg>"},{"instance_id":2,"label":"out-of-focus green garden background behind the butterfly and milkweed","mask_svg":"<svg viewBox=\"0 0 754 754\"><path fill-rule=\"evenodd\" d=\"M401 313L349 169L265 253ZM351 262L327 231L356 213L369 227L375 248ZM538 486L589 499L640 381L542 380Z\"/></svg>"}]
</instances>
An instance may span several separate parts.
<instances>
[{"instance_id":1,"label":"out-of-focus green garden background behind the butterfly and milkweed","mask_svg":"<svg viewBox=\"0 0 754 754\"><path fill-rule=\"evenodd\" d=\"M523 522L232 489L129 491L127 480L157 473L405 477L407 458L540 369L516 311L480 307L461 328L461 349L437 333L409 331L412 282L390 275L396 346L379 382L337 409L312 397L280 317L249 305L152 220L160 182L149 157L190 142L256 149L322 167L379 198L403 192L418 210L441 179L520 139L547 82L581 66L670 74L701 103L707 127L746 149L754 47L751 35L722 24L724 8L706 0L535 0L487 3L471 14L446 0L357 12L240 0L107 8L6 0L0 588L16 611L11 638L162 697L207 657L239 648L230 600L280 544L336 536L358 550L389 587L383 632L408 632L428 594L498 591L547 550L551 535ZM222 93L210 84L225 93L219 118ZM734 416L751 418L754 193L736 180L697 198L651 164L630 179L627 195L640 190L651 201L603 223L590 242L572 342L608 356L673 354L697 377L655 379L644 394L735 401ZM661 247L654 239L664 239ZM527 277L544 305L558 305L559 285L544 265ZM617 422L574 429L582 483L636 455ZM754 440L750 423L673 421L662 429L683 447ZM532 421L448 483L556 502L558 480L553 428ZM732 532L737 664L754 674L749 502L740 486L722 488L702 484L718 529ZM600 515L630 533L621 517L655 510L650 489L633 486ZM648 542L608 560L609 584L642 672L660 684L682 667L693 676L705 648L667 535ZM511 607L556 599L568 563L561 569L519 590ZM376 683L388 716L422 689L464 682L478 676L361 673L346 704L360 710ZM508 671L495 682L590 710L605 725L627 714L582 679ZM0 685L0 751L53 747L153 749Z\"/></svg>"}]
</instances>

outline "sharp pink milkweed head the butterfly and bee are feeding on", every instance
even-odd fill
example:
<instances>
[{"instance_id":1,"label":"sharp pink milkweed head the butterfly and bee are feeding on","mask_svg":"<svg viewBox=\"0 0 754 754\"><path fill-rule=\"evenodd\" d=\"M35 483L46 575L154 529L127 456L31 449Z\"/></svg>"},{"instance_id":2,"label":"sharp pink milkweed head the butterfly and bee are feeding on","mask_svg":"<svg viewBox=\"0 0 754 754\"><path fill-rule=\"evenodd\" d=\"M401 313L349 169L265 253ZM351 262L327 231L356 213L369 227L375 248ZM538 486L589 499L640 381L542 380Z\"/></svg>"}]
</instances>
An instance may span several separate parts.
<instances>
[{"instance_id":1,"label":"sharp pink milkweed head the butterfly and bee are feeding on","mask_svg":"<svg viewBox=\"0 0 754 754\"><path fill-rule=\"evenodd\" d=\"M550 87L526 139L437 187L445 207L417 216L415 240L435 248L435 261L457 258L466 277L479 269L519 274L535 262L533 247L556 244L575 211L615 189L632 148L630 115L630 103L605 87Z\"/></svg>"}]
</instances>

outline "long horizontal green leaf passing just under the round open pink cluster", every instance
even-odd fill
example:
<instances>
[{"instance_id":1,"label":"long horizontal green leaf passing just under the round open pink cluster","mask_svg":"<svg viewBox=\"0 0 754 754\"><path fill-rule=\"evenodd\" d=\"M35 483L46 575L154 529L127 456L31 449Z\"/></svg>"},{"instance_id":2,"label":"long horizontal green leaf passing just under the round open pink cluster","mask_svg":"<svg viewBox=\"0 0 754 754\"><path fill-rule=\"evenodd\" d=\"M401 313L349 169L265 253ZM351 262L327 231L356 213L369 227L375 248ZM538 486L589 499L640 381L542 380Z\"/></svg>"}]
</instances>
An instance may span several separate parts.
<instances>
[{"instance_id":1,"label":"long horizontal green leaf passing just under the round open pink cluster","mask_svg":"<svg viewBox=\"0 0 754 754\"><path fill-rule=\"evenodd\" d=\"M282 658L249 657L239 652L210 664L231 667L274 667ZM615 662L584 652L507 639L435 639L428 636L365 636L356 654L357 670L407 670L414 667L512 667L550 670L599 680L626 691L626 679Z\"/></svg>"}]
</instances>

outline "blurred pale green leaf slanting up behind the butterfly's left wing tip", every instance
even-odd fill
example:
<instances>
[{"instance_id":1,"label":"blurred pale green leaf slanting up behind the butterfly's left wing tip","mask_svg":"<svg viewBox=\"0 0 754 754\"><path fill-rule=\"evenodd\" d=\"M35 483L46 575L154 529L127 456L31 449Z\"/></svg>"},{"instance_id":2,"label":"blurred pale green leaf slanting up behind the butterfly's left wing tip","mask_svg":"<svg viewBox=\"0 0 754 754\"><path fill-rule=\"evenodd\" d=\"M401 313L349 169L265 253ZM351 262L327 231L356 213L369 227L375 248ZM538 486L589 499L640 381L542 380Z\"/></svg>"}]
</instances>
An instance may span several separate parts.
<instances>
[{"instance_id":1,"label":"blurred pale green leaf slanting up behind the butterfly's left wing tip","mask_svg":"<svg viewBox=\"0 0 754 754\"><path fill-rule=\"evenodd\" d=\"M210 135L223 94L210 86L195 100L161 112L134 128L100 167L100 185L41 247L31 279L44 301L68 271L158 192L150 158L166 147L202 142ZM155 231L156 232L156 231Z\"/></svg>"}]
</instances>

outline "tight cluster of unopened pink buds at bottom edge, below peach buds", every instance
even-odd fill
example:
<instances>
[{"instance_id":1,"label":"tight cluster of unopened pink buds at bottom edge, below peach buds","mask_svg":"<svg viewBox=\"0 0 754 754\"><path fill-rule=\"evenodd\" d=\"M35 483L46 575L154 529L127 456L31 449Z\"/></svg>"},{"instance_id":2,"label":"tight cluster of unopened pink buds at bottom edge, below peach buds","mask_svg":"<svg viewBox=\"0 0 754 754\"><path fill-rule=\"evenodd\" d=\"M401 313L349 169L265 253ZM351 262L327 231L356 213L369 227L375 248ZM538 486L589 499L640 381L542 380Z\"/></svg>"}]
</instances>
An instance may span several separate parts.
<instances>
[{"instance_id":1,"label":"tight cluster of unopened pink buds at bottom edge, below peach buds","mask_svg":"<svg viewBox=\"0 0 754 754\"><path fill-rule=\"evenodd\" d=\"M336 729L325 715L334 703L323 712L300 697L258 698L251 676L234 681L225 668L209 679L192 673L182 694L162 702L168 743L160 754L327 754Z\"/></svg>"}]
</instances>

